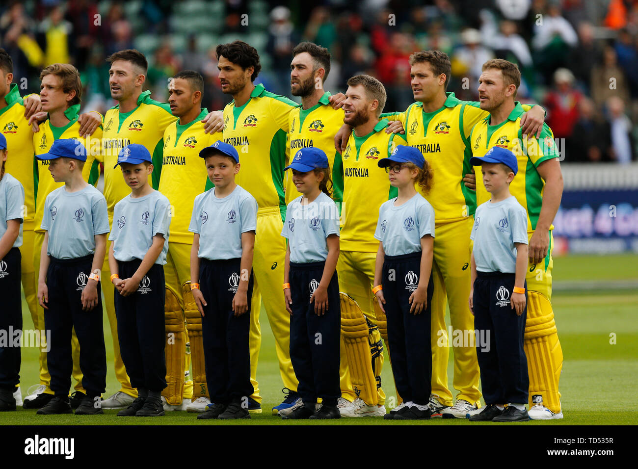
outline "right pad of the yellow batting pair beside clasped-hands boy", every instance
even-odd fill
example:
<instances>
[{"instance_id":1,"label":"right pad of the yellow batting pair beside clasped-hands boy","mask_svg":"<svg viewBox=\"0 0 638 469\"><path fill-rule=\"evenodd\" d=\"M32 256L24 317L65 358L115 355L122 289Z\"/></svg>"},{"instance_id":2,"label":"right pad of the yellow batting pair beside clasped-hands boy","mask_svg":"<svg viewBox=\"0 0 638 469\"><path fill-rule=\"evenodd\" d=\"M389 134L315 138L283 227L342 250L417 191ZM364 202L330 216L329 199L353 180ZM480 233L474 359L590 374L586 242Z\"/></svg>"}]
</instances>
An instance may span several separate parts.
<instances>
[{"instance_id":1,"label":"right pad of the yellow batting pair beside clasped-hands boy","mask_svg":"<svg viewBox=\"0 0 638 469\"><path fill-rule=\"evenodd\" d=\"M184 316L186 316L186 330L191 343L191 364L193 366L193 400L207 398L206 368L204 362L204 343L202 341L202 315L197 309L195 298L191 292L191 283L182 285L184 299Z\"/></svg>"}]
</instances>

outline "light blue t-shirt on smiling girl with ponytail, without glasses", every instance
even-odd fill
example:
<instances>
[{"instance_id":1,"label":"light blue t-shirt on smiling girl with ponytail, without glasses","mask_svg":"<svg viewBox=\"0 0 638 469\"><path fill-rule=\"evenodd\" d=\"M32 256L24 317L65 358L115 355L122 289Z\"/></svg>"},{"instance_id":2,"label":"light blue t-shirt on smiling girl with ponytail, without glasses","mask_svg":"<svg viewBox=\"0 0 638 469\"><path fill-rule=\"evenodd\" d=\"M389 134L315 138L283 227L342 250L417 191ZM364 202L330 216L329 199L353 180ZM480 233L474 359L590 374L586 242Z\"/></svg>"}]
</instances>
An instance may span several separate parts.
<instances>
[{"instance_id":1,"label":"light blue t-shirt on smiling girl with ponytail, without glasses","mask_svg":"<svg viewBox=\"0 0 638 469\"><path fill-rule=\"evenodd\" d=\"M339 209L323 192L308 205L301 205L303 197L288 204L281 235L288 238L290 262L323 262L328 257L326 238L339 236Z\"/></svg>"}]
</instances>

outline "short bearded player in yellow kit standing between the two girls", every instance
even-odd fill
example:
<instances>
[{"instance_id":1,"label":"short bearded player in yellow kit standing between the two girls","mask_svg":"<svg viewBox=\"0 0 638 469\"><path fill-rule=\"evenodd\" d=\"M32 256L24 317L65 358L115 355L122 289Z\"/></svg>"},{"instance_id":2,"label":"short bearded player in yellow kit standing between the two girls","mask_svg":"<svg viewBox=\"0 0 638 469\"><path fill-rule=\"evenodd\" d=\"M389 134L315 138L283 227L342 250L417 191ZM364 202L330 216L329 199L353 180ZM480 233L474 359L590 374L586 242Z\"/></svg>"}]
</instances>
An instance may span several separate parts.
<instances>
[{"instance_id":1,"label":"short bearded player in yellow kit standing between the two girls","mask_svg":"<svg viewBox=\"0 0 638 469\"><path fill-rule=\"evenodd\" d=\"M354 302L341 302L343 341L338 406L343 417L385 415L381 387L383 341L378 331L378 324L385 321L375 314L372 292L379 248L374 237L375 214L383 202L396 197L397 190L376 163L405 142L402 135L385 133L389 122L379 120L385 99L385 88L376 78L356 75L348 80L343 122L353 132L341 154L343 228L337 273L341 291Z\"/></svg>"}]
</instances>

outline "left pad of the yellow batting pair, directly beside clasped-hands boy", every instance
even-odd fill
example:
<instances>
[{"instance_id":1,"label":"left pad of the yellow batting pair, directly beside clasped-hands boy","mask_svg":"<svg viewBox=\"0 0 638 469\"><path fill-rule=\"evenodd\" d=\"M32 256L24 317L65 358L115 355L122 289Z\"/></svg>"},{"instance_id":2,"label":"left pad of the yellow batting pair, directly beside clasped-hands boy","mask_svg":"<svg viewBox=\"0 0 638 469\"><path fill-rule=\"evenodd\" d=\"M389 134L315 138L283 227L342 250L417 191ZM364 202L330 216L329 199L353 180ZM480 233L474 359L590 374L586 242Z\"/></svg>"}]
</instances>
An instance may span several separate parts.
<instances>
[{"instance_id":1,"label":"left pad of the yellow batting pair, directly beside clasped-hands boy","mask_svg":"<svg viewBox=\"0 0 638 469\"><path fill-rule=\"evenodd\" d=\"M186 363L186 331L184 328L184 316L179 307L179 300L172 290L166 289L164 302L164 320L166 324L166 381L167 387L162 391L162 396L170 405L182 403L184 392L184 371Z\"/></svg>"}]
</instances>

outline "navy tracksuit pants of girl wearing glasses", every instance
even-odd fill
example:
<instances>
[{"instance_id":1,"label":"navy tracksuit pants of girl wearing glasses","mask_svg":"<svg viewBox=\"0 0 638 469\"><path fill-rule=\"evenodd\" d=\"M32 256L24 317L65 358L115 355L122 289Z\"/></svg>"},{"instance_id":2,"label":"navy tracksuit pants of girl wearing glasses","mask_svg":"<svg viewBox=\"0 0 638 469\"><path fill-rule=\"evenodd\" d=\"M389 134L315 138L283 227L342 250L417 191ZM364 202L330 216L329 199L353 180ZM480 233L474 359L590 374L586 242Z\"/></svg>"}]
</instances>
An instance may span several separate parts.
<instances>
[{"instance_id":1,"label":"navy tracksuit pants of girl wearing glasses","mask_svg":"<svg viewBox=\"0 0 638 469\"><path fill-rule=\"evenodd\" d=\"M432 392L430 328L434 283L430 275L427 308L419 315L411 314L409 300L419 285L420 269L420 252L385 256L383 309L387 316L388 345L397 392L404 402L427 405Z\"/></svg>"}]
</instances>

